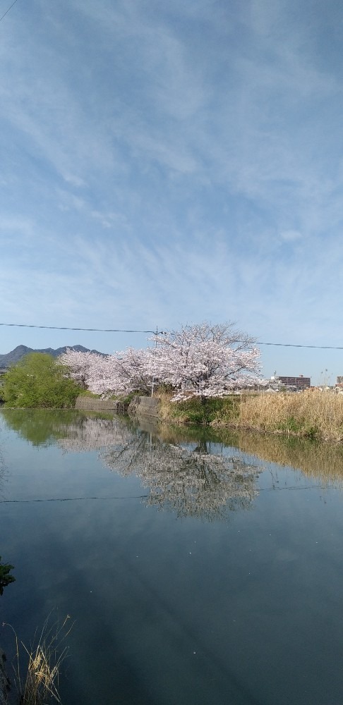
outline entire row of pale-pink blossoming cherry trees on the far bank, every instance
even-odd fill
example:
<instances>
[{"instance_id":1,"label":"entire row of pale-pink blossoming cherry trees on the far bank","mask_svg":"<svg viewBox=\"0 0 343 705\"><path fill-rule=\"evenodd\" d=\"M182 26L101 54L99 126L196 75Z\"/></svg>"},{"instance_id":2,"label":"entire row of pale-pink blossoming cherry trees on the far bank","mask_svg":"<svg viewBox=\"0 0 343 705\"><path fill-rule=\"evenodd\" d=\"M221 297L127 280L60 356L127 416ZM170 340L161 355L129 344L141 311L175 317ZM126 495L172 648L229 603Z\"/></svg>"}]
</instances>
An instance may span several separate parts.
<instances>
[{"instance_id":1,"label":"entire row of pale-pink blossoming cherry trees on the far bank","mask_svg":"<svg viewBox=\"0 0 343 705\"><path fill-rule=\"evenodd\" d=\"M67 350L59 358L73 379L90 391L109 394L145 391L167 384L174 400L222 397L260 383L260 351L253 338L233 324L202 323L180 331L157 333L152 346L127 348L114 355Z\"/></svg>"}]
</instances>

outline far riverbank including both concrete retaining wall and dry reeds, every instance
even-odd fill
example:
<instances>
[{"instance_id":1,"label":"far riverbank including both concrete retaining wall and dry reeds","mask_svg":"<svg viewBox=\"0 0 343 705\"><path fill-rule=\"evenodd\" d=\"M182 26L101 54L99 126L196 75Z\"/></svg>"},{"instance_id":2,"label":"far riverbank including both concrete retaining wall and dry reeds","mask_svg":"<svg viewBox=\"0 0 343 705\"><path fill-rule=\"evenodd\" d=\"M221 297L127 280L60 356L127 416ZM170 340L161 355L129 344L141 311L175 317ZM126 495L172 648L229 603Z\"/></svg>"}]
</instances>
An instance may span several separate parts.
<instances>
[{"instance_id":1,"label":"far riverbank including both concrete retaining wall and dry reeds","mask_svg":"<svg viewBox=\"0 0 343 705\"><path fill-rule=\"evenodd\" d=\"M157 389L153 398L132 396L103 400L79 396L76 410L127 413L181 426L212 427L300 439L343 443L343 395L320 390L299 393L246 393L224 398L173 402L172 392ZM4 405L5 408L10 408ZM52 410L53 411L53 410Z\"/></svg>"}]
</instances>

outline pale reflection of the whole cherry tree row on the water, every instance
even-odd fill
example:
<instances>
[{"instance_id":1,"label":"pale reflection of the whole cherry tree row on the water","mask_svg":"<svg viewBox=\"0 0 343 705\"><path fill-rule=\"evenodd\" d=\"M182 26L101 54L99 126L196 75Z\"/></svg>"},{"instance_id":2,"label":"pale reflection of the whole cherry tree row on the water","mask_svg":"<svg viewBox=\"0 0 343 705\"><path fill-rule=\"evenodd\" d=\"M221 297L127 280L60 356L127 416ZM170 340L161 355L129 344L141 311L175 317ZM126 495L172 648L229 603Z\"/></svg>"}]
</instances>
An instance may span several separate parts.
<instances>
[{"instance_id":1,"label":"pale reflection of the whole cherry tree row on the water","mask_svg":"<svg viewBox=\"0 0 343 705\"><path fill-rule=\"evenodd\" d=\"M126 477L138 475L149 489L149 505L174 510L179 517L227 517L230 511L251 508L258 494L258 470L241 458L210 453L204 439L184 447L169 436L166 443L116 417L83 419L59 446L69 451L99 450L110 470Z\"/></svg>"}]
</instances>

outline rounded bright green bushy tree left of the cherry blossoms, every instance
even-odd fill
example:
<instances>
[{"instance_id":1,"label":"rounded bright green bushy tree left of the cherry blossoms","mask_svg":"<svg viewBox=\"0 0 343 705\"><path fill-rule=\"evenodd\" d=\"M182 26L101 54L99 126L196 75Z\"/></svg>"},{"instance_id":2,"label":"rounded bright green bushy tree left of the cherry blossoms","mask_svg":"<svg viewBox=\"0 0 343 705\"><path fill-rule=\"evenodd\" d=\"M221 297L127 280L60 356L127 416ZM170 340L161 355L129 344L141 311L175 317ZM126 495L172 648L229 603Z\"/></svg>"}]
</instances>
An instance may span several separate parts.
<instances>
[{"instance_id":1,"label":"rounded bright green bushy tree left of the cherry blossoms","mask_svg":"<svg viewBox=\"0 0 343 705\"><path fill-rule=\"evenodd\" d=\"M46 353L30 353L4 375L1 390L6 406L70 408L80 387L66 365Z\"/></svg>"}]
</instances>

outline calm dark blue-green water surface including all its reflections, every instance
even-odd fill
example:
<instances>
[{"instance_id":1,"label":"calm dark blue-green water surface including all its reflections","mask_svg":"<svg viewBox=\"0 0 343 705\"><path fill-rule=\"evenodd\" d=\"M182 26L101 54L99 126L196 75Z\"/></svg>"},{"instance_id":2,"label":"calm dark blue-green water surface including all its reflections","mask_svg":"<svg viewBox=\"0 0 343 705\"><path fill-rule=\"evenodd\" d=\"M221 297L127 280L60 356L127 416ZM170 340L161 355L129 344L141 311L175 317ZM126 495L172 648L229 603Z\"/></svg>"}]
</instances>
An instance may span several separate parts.
<instances>
[{"instance_id":1,"label":"calm dark blue-green water surface including all its reflections","mask_svg":"<svg viewBox=\"0 0 343 705\"><path fill-rule=\"evenodd\" d=\"M52 611L75 620L64 705L343 703L340 448L77 412L0 424L0 622L29 644Z\"/></svg>"}]
</instances>

